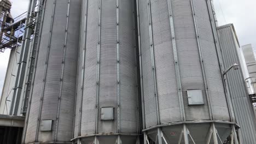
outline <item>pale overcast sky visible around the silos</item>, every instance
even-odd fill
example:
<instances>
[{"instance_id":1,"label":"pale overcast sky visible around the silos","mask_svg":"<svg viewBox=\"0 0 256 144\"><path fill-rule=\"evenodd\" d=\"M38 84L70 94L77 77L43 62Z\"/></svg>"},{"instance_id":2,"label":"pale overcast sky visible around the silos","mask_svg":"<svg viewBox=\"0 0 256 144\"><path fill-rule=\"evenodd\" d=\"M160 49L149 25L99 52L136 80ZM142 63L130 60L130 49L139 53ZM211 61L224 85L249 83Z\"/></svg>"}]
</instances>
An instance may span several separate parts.
<instances>
[{"instance_id":1,"label":"pale overcast sky visible around the silos","mask_svg":"<svg viewBox=\"0 0 256 144\"><path fill-rule=\"evenodd\" d=\"M27 11L28 0L11 0L11 14L16 17ZM213 0L219 26L234 23L240 44L256 47L256 1ZM0 53L0 95L7 69L9 50Z\"/></svg>"}]
</instances>

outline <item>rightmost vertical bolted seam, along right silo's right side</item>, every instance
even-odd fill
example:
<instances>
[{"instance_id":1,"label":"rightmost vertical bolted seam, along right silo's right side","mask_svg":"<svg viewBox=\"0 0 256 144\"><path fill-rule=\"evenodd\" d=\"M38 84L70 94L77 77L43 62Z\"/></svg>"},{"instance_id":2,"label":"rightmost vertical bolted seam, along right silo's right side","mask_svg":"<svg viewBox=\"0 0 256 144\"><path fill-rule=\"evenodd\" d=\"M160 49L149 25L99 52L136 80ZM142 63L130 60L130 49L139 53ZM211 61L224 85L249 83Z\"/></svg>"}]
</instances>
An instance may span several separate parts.
<instances>
[{"instance_id":1,"label":"rightmost vertical bolted seam, along right silo's right side","mask_svg":"<svg viewBox=\"0 0 256 144\"><path fill-rule=\"evenodd\" d=\"M220 69L220 75L222 76L222 82L223 82L223 87L224 87L224 94L225 94L225 99L226 99L226 102L227 102L227 106L228 106L228 110L229 110L229 115L230 115L230 121L231 122L234 122L233 121L233 117L232 117L232 111L231 111L231 105L230 105L230 101L229 101L229 94L226 92L226 86L225 86L225 82L224 82L224 77L223 77L223 71L224 71L224 68L223 68L223 59L222 59L222 55L221 55L221 51L220 51L220 43L219 43L219 37L218 35L216 34L217 32L217 26L216 26L216 23L215 23L215 18L214 16L212 15L213 14L213 8L212 8L212 4L211 2L209 2L210 0L206 0L206 5L207 5L207 9L208 9L208 15L210 17L210 21L211 21L211 27L212 27L212 32L213 32L213 39L215 41L215 47L216 47L216 51L217 51L217 57L218 57L218 62L219 62L219 69ZM212 14L211 12L212 11ZM213 22L214 21L214 22ZM216 31L214 31L214 29L216 29ZM214 113L213 113L214 115Z\"/></svg>"}]
</instances>

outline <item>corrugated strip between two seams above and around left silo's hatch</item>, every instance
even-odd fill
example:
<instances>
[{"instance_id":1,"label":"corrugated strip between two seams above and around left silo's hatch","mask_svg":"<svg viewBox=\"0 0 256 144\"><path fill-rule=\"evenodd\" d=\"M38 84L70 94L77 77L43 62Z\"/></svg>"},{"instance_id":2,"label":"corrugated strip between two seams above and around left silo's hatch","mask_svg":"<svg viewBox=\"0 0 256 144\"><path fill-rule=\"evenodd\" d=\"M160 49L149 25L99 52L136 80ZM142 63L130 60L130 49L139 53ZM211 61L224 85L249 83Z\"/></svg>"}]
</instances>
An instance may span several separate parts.
<instances>
[{"instance_id":1,"label":"corrugated strip between two seams above and around left silo's hatch","mask_svg":"<svg viewBox=\"0 0 256 144\"><path fill-rule=\"evenodd\" d=\"M41 119L53 119L53 127L56 127L56 117L59 99L60 79L61 79L61 63L62 49L65 43L67 15L67 1L56 1L55 14L53 21L53 29L51 33L51 44L49 48L48 65L45 75L45 86L43 89L43 102L41 110ZM42 43L42 42L41 42ZM47 43L46 43L47 44ZM39 48L40 49L40 48ZM34 89L35 91L36 89ZM33 96L32 96L33 97ZM50 133L38 131L38 141L54 141L55 129Z\"/></svg>"}]
</instances>

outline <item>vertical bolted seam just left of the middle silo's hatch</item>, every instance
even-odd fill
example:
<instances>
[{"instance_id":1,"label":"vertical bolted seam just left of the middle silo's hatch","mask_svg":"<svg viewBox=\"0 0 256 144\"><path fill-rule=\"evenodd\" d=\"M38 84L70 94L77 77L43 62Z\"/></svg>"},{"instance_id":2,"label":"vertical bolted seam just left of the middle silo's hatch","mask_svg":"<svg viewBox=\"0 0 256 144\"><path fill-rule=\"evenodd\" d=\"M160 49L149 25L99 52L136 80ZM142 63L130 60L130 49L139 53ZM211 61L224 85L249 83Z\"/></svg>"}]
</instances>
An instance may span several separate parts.
<instances>
[{"instance_id":1,"label":"vertical bolted seam just left of the middle silo's hatch","mask_svg":"<svg viewBox=\"0 0 256 144\"><path fill-rule=\"evenodd\" d=\"M95 134L98 133L98 89L100 85L100 49L101 49L101 0L98 0L98 45L97 45L97 79L96 79L96 117Z\"/></svg>"}]
</instances>

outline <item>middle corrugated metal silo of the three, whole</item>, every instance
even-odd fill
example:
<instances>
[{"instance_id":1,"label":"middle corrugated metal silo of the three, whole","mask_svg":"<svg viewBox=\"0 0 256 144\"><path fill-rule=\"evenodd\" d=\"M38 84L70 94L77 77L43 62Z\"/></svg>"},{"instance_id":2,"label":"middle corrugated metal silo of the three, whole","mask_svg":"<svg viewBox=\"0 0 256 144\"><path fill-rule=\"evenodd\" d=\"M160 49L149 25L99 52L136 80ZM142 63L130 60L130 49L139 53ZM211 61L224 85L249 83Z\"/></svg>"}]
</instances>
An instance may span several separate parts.
<instances>
[{"instance_id":1,"label":"middle corrugated metal silo of the three, whole","mask_svg":"<svg viewBox=\"0 0 256 144\"><path fill-rule=\"evenodd\" d=\"M133 7L127 0L83 1L74 142L138 142Z\"/></svg>"}]
</instances>

